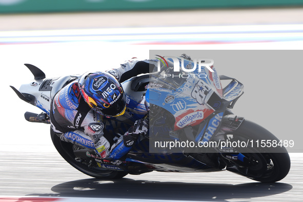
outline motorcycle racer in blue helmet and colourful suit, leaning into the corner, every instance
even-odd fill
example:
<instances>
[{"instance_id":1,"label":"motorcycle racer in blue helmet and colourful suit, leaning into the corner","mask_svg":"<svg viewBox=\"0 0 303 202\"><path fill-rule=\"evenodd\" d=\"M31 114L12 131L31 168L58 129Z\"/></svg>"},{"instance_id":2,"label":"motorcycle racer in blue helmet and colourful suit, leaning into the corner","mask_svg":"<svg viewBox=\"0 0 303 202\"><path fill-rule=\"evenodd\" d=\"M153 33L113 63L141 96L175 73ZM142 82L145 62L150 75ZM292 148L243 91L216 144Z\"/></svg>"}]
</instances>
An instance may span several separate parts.
<instances>
[{"instance_id":1,"label":"motorcycle racer in blue helmet and colourful suit, leaning into the corner","mask_svg":"<svg viewBox=\"0 0 303 202\"><path fill-rule=\"evenodd\" d=\"M118 139L105 130L107 120L124 116L126 93L120 83L154 67L152 60L128 60L117 69L83 74L53 98L52 130L61 140L95 149L103 159L122 159L139 135L147 133L148 118L136 120Z\"/></svg>"}]
</instances>

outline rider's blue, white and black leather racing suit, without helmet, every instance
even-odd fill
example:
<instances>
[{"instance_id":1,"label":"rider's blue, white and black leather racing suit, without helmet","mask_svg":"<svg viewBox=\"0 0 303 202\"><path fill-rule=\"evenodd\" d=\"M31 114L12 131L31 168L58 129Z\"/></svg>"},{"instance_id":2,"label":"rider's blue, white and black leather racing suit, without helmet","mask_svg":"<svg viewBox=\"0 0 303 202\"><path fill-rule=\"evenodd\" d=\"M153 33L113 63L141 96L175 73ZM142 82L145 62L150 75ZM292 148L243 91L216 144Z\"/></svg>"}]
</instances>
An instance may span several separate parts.
<instances>
[{"instance_id":1,"label":"rider's blue, white and black leather racing suit, without helmet","mask_svg":"<svg viewBox=\"0 0 303 202\"><path fill-rule=\"evenodd\" d=\"M149 73L154 66L152 60L128 60L119 68L106 72L122 83L138 74ZM126 144L125 140L129 132L117 137L105 130L107 118L96 113L85 102L79 92L77 80L55 95L50 118L52 130L61 140L94 149L104 159L118 160L132 148L132 144Z\"/></svg>"}]
</instances>

